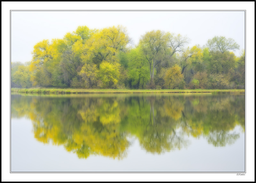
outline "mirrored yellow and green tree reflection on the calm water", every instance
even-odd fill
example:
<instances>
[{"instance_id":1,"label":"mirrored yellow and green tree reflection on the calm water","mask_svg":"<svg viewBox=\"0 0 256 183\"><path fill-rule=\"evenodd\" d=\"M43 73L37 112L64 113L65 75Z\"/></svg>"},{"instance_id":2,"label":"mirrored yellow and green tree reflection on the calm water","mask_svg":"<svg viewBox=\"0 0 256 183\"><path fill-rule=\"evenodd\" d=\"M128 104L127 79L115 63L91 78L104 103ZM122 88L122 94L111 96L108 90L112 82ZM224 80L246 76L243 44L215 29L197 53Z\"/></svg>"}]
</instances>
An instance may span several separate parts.
<instances>
[{"instance_id":1,"label":"mirrored yellow and green tree reflection on the calm water","mask_svg":"<svg viewBox=\"0 0 256 183\"><path fill-rule=\"evenodd\" d=\"M244 95L12 95L11 114L30 118L40 142L63 145L80 158L122 159L131 144L128 133L154 154L187 147L184 137L191 135L216 147L233 144L239 133L229 132L236 125L244 129L244 104Z\"/></svg>"}]
</instances>

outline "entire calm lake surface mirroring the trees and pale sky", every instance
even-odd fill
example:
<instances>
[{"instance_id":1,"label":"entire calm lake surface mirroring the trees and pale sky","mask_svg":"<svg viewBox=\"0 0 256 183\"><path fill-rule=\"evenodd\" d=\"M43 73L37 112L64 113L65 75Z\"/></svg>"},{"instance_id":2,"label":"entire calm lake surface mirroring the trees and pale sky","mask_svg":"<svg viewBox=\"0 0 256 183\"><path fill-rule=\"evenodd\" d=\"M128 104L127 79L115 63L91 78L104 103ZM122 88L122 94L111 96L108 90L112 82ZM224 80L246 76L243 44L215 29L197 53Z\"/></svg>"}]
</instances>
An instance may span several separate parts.
<instances>
[{"instance_id":1,"label":"entire calm lake surface mirroring the trees and pale sky","mask_svg":"<svg viewBox=\"0 0 256 183\"><path fill-rule=\"evenodd\" d=\"M12 172L244 172L243 94L11 95Z\"/></svg>"}]
</instances>

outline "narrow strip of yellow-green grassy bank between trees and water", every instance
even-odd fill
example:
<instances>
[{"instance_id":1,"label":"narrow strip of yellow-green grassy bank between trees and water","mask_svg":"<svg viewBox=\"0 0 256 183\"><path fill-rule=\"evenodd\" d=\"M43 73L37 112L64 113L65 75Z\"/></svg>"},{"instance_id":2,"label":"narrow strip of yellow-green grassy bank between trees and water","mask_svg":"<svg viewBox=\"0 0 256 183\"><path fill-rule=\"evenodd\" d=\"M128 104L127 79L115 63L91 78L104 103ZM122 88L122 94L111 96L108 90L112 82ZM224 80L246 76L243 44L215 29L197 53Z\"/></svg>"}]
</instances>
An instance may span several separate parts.
<instances>
[{"instance_id":1,"label":"narrow strip of yellow-green grassy bank between trees and water","mask_svg":"<svg viewBox=\"0 0 256 183\"><path fill-rule=\"evenodd\" d=\"M90 93L245 93L244 89L163 89L163 90L130 90L130 89L57 89L57 88L11 88L11 92L38 94L90 94Z\"/></svg>"}]
</instances>

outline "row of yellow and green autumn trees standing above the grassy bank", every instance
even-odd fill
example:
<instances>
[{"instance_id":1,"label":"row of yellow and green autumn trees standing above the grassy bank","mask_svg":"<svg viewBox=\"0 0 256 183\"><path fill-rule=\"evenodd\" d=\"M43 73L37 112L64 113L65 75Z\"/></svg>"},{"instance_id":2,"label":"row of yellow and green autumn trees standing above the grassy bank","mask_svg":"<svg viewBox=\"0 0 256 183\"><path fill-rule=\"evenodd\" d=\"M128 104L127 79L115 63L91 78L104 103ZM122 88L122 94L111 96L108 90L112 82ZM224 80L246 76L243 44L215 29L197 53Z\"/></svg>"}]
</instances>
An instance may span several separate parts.
<instances>
[{"instance_id":1,"label":"row of yellow and green autumn trees standing above the grassy bank","mask_svg":"<svg viewBox=\"0 0 256 183\"><path fill-rule=\"evenodd\" d=\"M11 62L11 87L113 89L244 89L245 51L215 36L187 47L180 34L152 30L132 45L126 27L79 26L63 39L43 40L26 63Z\"/></svg>"}]
</instances>

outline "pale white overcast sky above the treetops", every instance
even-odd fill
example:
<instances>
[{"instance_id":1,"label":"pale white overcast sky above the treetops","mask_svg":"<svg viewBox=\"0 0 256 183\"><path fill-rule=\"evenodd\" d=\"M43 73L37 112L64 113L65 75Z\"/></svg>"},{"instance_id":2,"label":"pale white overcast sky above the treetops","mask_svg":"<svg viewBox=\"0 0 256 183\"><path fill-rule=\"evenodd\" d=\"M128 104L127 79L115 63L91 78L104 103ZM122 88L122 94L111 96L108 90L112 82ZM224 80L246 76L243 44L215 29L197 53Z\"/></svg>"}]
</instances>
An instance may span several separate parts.
<instances>
[{"instance_id":1,"label":"pale white overcast sky above the treetops","mask_svg":"<svg viewBox=\"0 0 256 183\"><path fill-rule=\"evenodd\" d=\"M26 62L37 42L60 38L78 26L104 28L123 25L133 43L151 30L169 31L203 46L214 36L234 39L244 49L244 11L12 11L11 60ZM235 52L239 56L240 51Z\"/></svg>"}]
</instances>

